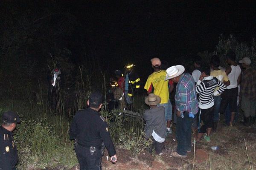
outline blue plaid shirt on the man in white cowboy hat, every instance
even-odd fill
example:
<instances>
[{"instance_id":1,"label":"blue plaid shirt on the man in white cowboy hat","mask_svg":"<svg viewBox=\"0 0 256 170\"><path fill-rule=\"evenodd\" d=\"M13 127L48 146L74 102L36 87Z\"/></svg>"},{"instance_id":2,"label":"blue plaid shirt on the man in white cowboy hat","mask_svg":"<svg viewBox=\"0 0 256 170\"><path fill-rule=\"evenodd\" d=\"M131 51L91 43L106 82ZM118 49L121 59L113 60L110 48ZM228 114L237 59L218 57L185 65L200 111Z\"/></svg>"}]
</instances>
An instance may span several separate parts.
<instances>
[{"instance_id":1,"label":"blue plaid shirt on the man in white cowboy hat","mask_svg":"<svg viewBox=\"0 0 256 170\"><path fill-rule=\"evenodd\" d=\"M188 73L181 74L180 76L180 81L176 86L175 105L178 111L188 111L192 114L198 113L195 81Z\"/></svg>"}]
</instances>

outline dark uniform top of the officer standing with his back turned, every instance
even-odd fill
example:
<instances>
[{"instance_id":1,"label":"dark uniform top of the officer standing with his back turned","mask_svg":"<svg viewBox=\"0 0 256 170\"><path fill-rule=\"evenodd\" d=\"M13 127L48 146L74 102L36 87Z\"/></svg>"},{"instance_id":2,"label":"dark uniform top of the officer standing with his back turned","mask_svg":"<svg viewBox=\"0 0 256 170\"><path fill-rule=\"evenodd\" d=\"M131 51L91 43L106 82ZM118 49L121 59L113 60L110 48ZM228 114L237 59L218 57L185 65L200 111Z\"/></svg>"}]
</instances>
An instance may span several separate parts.
<instances>
[{"instance_id":1,"label":"dark uniform top of the officer standing with his back turned","mask_svg":"<svg viewBox=\"0 0 256 170\"><path fill-rule=\"evenodd\" d=\"M91 108L82 109L73 119L70 139L76 139L78 144L86 148L101 148L103 141L109 156L114 156L116 150L108 131L108 124L99 112Z\"/></svg>"}]
</instances>

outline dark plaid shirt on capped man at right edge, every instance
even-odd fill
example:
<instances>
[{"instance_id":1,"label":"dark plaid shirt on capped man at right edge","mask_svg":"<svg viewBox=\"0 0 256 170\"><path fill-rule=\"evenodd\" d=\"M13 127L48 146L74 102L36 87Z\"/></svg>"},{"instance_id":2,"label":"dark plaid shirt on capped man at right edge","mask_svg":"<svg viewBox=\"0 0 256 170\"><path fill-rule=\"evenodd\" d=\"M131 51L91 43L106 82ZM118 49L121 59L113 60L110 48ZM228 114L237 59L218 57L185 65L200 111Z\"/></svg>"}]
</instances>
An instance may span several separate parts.
<instances>
[{"instance_id":1,"label":"dark plaid shirt on capped man at right edge","mask_svg":"<svg viewBox=\"0 0 256 170\"><path fill-rule=\"evenodd\" d=\"M242 74L241 95L256 99L256 70L253 68L247 68Z\"/></svg>"}]
</instances>

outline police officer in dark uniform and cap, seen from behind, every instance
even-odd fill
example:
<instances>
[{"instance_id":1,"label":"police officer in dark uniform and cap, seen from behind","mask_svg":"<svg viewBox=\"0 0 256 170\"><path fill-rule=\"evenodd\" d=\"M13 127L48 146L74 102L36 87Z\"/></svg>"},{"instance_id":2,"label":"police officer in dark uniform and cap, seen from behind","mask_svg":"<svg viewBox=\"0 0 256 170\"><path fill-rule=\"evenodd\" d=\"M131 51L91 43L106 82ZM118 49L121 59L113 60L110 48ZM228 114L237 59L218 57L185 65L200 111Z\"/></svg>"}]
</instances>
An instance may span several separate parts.
<instances>
[{"instance_id":1,"label":"police officer in dark uniform and cap, seen from behind","mask_svg":"<svg viewBox=\"0 0 256 170\"><path fill-rule=\"evenodd\" d=\"M75 151L80 170L101 170L102 142L111 156L117 161L116 150L110 137L108 124L99 110L102 107L102 94L94 92L87 101L89 108L79 110L70 127L70 139L75 139Z\"/></svg>"}]
</instances>

